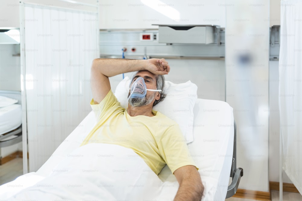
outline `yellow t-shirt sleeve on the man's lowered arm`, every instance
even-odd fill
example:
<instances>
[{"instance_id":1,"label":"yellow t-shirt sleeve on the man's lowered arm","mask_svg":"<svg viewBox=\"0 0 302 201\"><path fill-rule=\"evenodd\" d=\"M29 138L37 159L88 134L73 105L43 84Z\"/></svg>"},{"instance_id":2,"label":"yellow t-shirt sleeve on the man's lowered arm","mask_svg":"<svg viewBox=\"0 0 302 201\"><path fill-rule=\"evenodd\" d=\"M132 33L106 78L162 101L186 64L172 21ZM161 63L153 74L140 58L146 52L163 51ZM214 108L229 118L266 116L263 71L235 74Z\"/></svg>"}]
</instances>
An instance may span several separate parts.
<instances>
[{"instance_id":1,"label":"yellow t-shirt sleeve on the man's lowered arm","mask_svg":"<svg viewBox=\"0 0 302 201\"><path fill-rule=\"evenodd\" d=\"M163 133L159 152L173 174L175 170L186 165L194 165L197 168L178 125L170 126Z\"/></svg>"}]
</instances>

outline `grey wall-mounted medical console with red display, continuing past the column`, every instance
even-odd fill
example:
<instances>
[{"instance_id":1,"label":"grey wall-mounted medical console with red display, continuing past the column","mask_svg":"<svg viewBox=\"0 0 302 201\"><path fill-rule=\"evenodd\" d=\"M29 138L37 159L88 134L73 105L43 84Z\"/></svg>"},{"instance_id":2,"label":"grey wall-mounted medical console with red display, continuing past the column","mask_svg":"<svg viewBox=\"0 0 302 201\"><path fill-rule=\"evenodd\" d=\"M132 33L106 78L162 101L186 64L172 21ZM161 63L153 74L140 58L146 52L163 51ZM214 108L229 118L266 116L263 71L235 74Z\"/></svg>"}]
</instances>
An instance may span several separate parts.
<instances>
[{"instance_id":1,"label":"grey wall-mounted medical console with red display, continuing past the column","mask_svg":"<svg viewBox=\"0 0 302 201\"><path fill-rule=\"evenodd\" d=\"M225 29L216 25L158 25L158 29L100 30L101 58L219 59ZM280 25L270 28L270 60L279 59Z\"/></svg>"}]
</instances>

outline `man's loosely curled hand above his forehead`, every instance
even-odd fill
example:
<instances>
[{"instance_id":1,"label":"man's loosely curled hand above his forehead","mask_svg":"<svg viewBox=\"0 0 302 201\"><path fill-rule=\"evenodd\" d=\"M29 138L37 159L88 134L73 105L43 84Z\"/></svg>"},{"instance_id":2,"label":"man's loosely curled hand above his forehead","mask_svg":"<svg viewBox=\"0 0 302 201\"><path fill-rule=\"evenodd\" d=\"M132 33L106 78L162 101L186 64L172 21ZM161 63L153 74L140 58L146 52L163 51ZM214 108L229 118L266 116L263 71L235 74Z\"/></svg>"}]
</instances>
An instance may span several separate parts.
<instances>
[{"instance_id":1,"label":"man's loosely curled hand above his forehead","mask_svg":"<svg viewBox=\"0 0 302 201\"><path fill-rule=\"evenodd\" d=\"M148 59L146 70L156 75L167 75L170 72L168 61L162 59Z\"/></svg>"}]
</instances>

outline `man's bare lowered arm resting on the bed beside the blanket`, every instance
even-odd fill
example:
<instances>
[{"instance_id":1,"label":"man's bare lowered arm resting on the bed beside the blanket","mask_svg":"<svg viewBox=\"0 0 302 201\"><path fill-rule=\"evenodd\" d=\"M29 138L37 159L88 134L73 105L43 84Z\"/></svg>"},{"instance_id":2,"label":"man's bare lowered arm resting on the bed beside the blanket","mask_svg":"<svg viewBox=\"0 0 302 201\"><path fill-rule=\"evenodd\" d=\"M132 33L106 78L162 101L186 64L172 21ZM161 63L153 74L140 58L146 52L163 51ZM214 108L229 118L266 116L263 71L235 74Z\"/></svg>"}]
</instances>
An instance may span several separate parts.
<instances>
[{"instance_id":1,"label":"man's bare lowered arm resting on the bed beside the blanket","mask_svg":"<svg viewBox=\"0 0 302 201\"><path fill-rule=\"evenodd\" d=\"M179 188L174 201L200 201L204 186L201 178L193 165L186 165L174 171L174 175L179 183Z\"/></svg>"}]
</instances>

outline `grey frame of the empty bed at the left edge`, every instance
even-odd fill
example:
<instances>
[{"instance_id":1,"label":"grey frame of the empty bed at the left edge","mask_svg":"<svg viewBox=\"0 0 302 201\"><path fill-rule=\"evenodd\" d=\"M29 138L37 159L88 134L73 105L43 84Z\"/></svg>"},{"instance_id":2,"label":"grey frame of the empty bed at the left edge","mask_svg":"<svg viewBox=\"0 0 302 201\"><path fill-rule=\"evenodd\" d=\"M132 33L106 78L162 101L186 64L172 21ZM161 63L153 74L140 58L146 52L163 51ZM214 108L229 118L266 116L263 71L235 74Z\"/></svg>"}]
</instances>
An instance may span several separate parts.
<instances>
[{"instance_id":1,"label":"grey frame of the empty bed at the left edge","mask_svg":"<svg viewBox=\"0 0 302 201\"><path fill-rule=\"evenodd\" d=\"M18 104L21 104L21 92L20 91L0 90L0 96L6 96L9 98L16 99L16 100L18 100ZM15 137L10 140L5 140L6 138L13 136L13 135L16 135L18 137ZM2 134L0 136L0 147L10 146L10 145L16 144L21 141L22 141L22 125L8 133Z\"/></svg>"}]
</instances>

